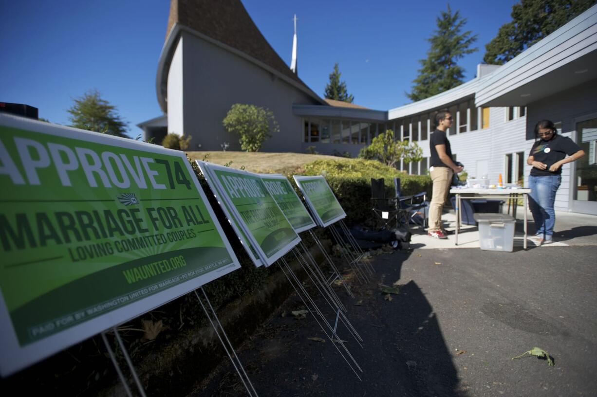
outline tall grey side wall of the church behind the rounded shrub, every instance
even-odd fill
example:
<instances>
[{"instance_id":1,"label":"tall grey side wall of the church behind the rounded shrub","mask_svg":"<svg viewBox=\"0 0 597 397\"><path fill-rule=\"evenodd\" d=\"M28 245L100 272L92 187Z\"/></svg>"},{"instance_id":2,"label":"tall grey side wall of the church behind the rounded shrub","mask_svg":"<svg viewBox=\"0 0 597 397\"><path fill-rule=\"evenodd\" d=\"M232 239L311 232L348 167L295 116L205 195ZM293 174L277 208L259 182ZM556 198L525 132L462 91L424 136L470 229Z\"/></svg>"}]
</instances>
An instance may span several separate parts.
<instances>
[{"instance_id":1,"label":"tall grey side wall of the church behind the rounded shrub","mask_svg":"<svg viewBox=\"0 0 597 397\"><path fill-rule=\"evenodd\" d=\"M239 137L228 134L222 120L233 104L242 103L269 108L279 124L279 134L267 139L262 151L303 151L303 126L301 117L293 113L293 104L315 104L315 100L220 46L187 32L181 33L181 37L184 39L183 123L185 134L192 137L190 150L198 150L198 144L200 150L221 150L224 141L230 143L229 150L240 150Z\"/></svg>"}]
</instances>

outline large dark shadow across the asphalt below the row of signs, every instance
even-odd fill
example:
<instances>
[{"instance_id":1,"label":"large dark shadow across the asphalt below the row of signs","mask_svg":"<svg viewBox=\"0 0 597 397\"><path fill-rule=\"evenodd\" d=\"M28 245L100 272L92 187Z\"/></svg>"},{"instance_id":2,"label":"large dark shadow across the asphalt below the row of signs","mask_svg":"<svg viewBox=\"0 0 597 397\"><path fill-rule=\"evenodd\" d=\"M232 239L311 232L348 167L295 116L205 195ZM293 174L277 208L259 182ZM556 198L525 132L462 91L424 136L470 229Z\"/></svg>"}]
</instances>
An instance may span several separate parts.
<instances>
[{"instance_id":1,"label":"large dark shadow across the asphalt below the row of signs","mask_svg":"<svg viewBox=\"0 0 597 397\"><path fill-rule=\"evenodd\" d=\"M360 365L359 381L322 333L311 314L297 320L302 308L291 296L270 320L238 349L239 357L261 396L466 396L459 392L456 367L433 308L415 281L398 294L381 293L378 284L401 284L400 274L410 253L374 256L376 274L370 283L352 282L355 299L336 291L347 317L364 339L360 348L344 328L340 339ZM339 266L340 263L337 263ZM347 270L347 269L345 269ZM304 283L306 286L310 284ZM320 308L316 291L309 291ZM333 314L327 312L333 325ZM315 338L315 339L309 339ZM325 340L322 342L318 340ZM225 363L192 396L246 395L233 368Z\"/></svg>"}]
</instances>

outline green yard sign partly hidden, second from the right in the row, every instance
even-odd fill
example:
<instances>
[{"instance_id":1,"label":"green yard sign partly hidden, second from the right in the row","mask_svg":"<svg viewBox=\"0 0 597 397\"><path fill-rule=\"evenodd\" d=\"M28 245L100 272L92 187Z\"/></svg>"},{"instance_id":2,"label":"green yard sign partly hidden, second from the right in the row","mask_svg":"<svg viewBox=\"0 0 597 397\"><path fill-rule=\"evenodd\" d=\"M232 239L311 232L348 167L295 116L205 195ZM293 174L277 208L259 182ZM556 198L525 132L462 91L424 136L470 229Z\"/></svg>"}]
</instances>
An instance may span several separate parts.
<instances>
[{"instance_id":1,"label":"green yard sign partly hidden, second from the right in the row","mask_svg":"<svg viewBox=\"0 0 597 397\"><path fill-rule=\"evenodd\" d=\"M293 225L294 231L300 233L316 226L290 181L284 175L262 173L260 176L267 191L276 200L288 222Z\"/></svg>"}]
</instances>

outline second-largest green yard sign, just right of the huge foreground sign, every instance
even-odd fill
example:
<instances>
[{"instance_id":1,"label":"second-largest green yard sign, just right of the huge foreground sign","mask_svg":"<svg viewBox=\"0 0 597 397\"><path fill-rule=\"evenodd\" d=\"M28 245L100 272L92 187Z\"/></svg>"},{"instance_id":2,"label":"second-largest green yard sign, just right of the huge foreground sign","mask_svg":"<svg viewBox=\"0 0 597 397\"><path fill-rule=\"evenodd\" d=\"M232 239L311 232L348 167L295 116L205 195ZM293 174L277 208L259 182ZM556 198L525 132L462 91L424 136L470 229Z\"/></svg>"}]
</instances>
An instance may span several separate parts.
<instances>
[{"instance_id":1,"label":"second-largest green yard sign, just right of the huge foreground sign","mask_svg":"<svg viewBox=\"0 0 597 397\"><path fill-rule=\"evenodd\" d=\"M300 237L256 173L203 163L208 183L216 184L245 237L269 266L290 251ZM211 179L211 180L210 180Z\"/></svg>"}]
</instances>

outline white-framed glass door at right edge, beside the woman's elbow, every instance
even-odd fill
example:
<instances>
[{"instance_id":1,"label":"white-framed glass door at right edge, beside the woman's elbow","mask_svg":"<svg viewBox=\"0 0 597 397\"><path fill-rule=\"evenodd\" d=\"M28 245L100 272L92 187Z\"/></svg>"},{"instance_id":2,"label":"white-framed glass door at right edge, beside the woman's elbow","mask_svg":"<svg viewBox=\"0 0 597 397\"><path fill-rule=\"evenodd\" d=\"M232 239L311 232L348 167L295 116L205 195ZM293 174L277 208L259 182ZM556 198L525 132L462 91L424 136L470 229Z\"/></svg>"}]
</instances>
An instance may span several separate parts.
<instances>
[{"instance_id":1,"label":"white-framed glass door at right edge, beside the woman's elbow","mask_svg":"<svg viewBox=\"0 0 597 397\"><path fill-rule=\"evenodd\" d=\"M576 131L586 154L575 162L573 210L597 215L597 119L577 123Z\"/></svg>"}]
</instances>

